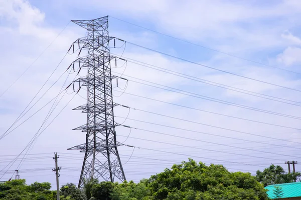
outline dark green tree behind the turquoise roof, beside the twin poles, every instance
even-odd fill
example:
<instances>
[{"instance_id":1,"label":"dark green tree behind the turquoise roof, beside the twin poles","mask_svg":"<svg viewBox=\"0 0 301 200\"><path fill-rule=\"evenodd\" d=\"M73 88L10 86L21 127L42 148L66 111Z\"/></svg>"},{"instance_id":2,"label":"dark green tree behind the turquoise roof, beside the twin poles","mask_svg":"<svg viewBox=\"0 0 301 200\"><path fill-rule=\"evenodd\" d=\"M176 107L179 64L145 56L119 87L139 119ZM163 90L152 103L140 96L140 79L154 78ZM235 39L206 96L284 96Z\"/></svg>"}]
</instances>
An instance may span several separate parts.
<instances>
[{"instance_id":1,"label":"dark green tree behind the turquoise roof, beside the twin poles","mask_svg":"<svg viewBox=\"0 0 301 200\"><path fill-rule=\"evenodd\" d=\"M264 186L270 184L281 184L287 182L293 182L295 179L301 176L299 172L285 173L284 169L279 165L270 165L263 171L256 171L256 179Z\"/></svg>"}]
</instances>

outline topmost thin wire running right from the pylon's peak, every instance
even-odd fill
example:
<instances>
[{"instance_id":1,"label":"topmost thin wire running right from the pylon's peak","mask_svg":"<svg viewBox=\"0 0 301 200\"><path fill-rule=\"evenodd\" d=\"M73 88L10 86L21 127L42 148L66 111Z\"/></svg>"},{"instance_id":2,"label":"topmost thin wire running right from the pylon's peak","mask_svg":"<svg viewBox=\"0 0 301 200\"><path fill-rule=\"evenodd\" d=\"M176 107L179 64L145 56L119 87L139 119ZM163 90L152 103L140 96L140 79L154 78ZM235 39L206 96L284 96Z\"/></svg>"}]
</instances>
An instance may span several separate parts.
<instances>
[{"instance_id":1,"label":"topmost thin wire running right from the pylon's peak","mask_svg":"<svg viewBox=\"0 0 301 200\"><path fill-rule=\"evenodd\" d=\"M296 74L301 74L301 73L296 72L296 71L288 70L288 69L281 68L281 67L272 66L272 65L269 65L269 64L264 64L262 62L254 61L254 60L251 60L251 59L248 59L248 58L240 57L240 56L237 56L237 55L234 55L234 54L226 53L226 52L223 52L223 51L220 51L220 50L217 50L217 49L213 49L213 48L210 48L210 47L207 47L207 46L203 46L203 45L191 42L191 41L180 39L178 37L171 36L171 35L168 35L168 34L165 34L165 33L159 32L159 31L156 31L156 30L152 30L150 28L146 28L146 27L143 27L143 26L140 26L140 25L137 25L137 24L134 24L134 23L131 23L131 22L128 22L128 21L125 21L125 20L113 17L113 16L110 16L110 17L114 18L114 19L117 19L117 20L120 20L120 21L123 21L123 22L126 22L128 24L131 24L131 25L134 25L134 26L137 26L137 27L140 27L140 28L143 28L143 29L155 32L155 33L158 33L158 34L162 34L164 36L167 36L167 37L170 37L170 38L173 38L173 39L177 39L177 40L180 40L180 41L183 41L183 42L186 42L186 43L190 43L190 44L193 44L193 45L196 45L196 46L200 46L202 48L207 48L209 50L216 51L216 52L219 52L219 53L222 53L222 54L225 54L225 55L229 55L229 56L236 57L236 58L239 58L239 59L243 59L243 60L246 60L246 61L254 62L254 63L257 63L257 64L264 65L264 66L269 66L269 67L272 67L272 68L277 68L277 69L280 69L280 70L284 70L284 71L288 71L288 72L292 72L292 73L296 73Z\"/></svg>"}]
</instances>

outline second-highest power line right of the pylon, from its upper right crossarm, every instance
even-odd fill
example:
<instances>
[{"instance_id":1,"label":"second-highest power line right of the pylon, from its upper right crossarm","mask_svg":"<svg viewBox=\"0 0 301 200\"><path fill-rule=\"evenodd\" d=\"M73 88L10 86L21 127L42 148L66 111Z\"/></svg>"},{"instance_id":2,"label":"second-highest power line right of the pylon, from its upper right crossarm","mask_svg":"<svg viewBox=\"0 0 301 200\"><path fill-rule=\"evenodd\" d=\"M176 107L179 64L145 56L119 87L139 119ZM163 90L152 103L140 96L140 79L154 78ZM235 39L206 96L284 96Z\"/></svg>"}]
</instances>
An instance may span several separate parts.
<instances>
[{"instance_id":1,"label":"second-highest power line right of the pylon, from its upper right crossarm","mask_svg":"<svg viewBox=\"0 0 301 200\"><path fill-rule=\"evenodd\" d=\"M124 40L122 40L122 41L124 41ZM148 48L148 47L145 47L145 46L142 46L142 45L139 45L139 44L135 44L135 43L132 43L132 42L129 42L129 41L126 41L126 42L129 43L129 44L132 44L134 46L137 46L137 47L140 47L140 48L144 48L144 49L147 49L147 50L150 50L150 51L154 51L154 52L157 52L157 53L160 53L160 54L163 54L163 55L166 55L166 56L170 56L170 57L173 57L173 58L176 58L176 59L180 59L182 61L186 61L186 62L189 62L189 63L192 63L192 64L196 64L196 65L199 65L199 66L204 66L204 67L207 67L207 68L210 68L210 69L214 69L214 70L217 70L217 71L221 71L221 72L228 73L228 74L235 75L235 76L242 77L242 78L247 78L247 79L250 79L250 80L257 81L257 82L262 82L262 83L265 83L265 84L274 85L274 86L277 86L277 87L281 87L281 88L285 88L285 89L289 89L289 90L294 90L294 91L301 92L301 90L298 90L298 89L294 89L294 88L282 86L282 85L279 85L279 84L274 84L274 83L266 82L266 81L263 81L263 80L251 78L251 77L244 76L244 75L239 75L239 74L234 73L234 72L225 71L225 70L218 69L218 68L215 68L215 67L207 66L205 64L200 64L200 63L188 60L188 59L177 57L177 56L174 56L174 55L171 55L171 54L168 54L168 53L164 53L164 52L161 52L159 50L152 49L152 48Z\"/></svg>"}]
</instances>

